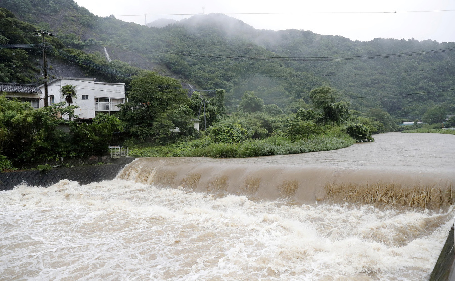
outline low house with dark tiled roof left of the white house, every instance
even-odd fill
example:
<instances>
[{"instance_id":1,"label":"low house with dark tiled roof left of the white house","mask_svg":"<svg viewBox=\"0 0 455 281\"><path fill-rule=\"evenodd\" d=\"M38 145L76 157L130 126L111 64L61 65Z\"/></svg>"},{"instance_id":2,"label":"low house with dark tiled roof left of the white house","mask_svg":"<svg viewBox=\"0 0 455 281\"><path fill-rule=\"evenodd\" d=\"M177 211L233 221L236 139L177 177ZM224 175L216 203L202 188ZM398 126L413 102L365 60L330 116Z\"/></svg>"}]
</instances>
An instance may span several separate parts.
<instances>
[{"instance_id":1,"label":"low house with dark tiled roof left of the white house","mask_svg":"<svg viewBox=\"0 0 455 281\"><path fill-rule=\"evenodd\" d=\"M39 108L41 91L35 85L0 83L0 93L7 98L17 98L21 102L29 102L35 109Z\"/></svg>"}]
</instances>

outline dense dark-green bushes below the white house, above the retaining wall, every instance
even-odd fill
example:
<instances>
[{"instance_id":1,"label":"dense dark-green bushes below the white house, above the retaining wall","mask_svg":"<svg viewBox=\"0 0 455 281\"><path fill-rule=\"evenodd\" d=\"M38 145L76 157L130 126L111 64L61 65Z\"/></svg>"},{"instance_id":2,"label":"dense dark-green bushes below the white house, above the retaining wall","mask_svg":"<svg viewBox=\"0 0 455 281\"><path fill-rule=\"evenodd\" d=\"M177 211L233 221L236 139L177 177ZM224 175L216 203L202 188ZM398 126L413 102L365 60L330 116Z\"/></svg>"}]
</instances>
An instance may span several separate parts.
<instances>
[{"instance_id":1,"label":"dense dark-green bushes below the white house, above the retaining wall","mask_svg":"<svg viewBox=\"0 0 455 281\"><path fill-rule=\"evenodd\" d=\"M120 121L103 114L94 118L92 124L76 124L58 117L74 114L76 107L64 106L62 102L33 109L30 103L0 96L0 161L3 161L0 164L4 169L61 157L105 153L113 133L123 130ZM66 132L68 129L70 133Z\"/></svg>"}]
</instances>

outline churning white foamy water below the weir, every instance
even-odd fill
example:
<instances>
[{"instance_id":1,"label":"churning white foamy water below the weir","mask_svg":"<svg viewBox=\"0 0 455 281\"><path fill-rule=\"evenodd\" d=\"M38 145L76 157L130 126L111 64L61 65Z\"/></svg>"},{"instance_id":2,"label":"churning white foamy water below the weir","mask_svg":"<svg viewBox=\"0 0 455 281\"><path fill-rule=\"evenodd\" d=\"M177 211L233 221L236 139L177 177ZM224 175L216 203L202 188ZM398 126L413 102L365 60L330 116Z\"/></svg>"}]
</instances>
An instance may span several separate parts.
<instances>
[{"instance_id":1,"label":"churning white foamy water below the weir","mask_svg":"<svg viewBox=\"0 0 455 281\"><path fill-rule=\"evenodd\" d=\"M10 279L428 278L448 212L219 198L113 180L0 192Z\"/></svg>"}]
</instances>

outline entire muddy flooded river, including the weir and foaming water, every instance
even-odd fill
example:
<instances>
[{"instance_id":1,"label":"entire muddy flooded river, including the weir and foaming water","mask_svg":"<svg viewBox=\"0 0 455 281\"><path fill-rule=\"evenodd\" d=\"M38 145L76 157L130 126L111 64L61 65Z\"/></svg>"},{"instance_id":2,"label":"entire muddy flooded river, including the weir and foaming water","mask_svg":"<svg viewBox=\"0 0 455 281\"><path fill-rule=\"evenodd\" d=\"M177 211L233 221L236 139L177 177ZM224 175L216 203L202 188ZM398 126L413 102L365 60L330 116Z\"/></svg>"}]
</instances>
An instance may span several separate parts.
<instances>
[{"instance_id":1,"label":"entire muddy flooded river, including the weir and foaming water","mask_svg":"<svg viewBox=\"0 0 455 281\"><path fill-rule=\"evenodd\" d=\"M0 280L425 280L453 224L455 136L142 158L0 192Z\"/></svg>"}]
</instances>

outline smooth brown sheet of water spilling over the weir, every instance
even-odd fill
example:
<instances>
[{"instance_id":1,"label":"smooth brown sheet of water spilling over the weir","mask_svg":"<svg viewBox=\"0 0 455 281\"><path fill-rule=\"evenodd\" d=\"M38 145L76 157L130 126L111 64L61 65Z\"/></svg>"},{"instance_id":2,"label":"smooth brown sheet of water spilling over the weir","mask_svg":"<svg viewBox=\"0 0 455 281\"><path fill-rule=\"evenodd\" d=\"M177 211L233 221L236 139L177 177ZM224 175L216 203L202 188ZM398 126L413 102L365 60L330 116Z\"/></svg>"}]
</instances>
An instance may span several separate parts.
<instances>
[{"instance_id":1,"label":"smooth brown sheet of water spilling over the weir","mask_svg":"<svg viewBox=\"0 0 455 281\"><path fill-rule=\"evenodd\" d=\"M305 155L300 156L302 160ZM435 209L453 202L453 175L308 165L298 157L141 158L118 177L147 185L293 204L359 203ZM285 160L285 161L281 161Z\"/></svg>"}]
</instances>

